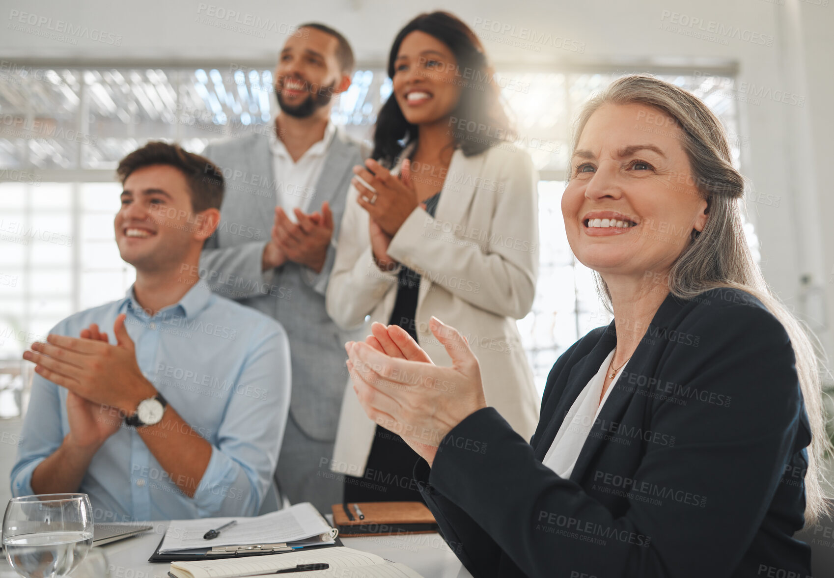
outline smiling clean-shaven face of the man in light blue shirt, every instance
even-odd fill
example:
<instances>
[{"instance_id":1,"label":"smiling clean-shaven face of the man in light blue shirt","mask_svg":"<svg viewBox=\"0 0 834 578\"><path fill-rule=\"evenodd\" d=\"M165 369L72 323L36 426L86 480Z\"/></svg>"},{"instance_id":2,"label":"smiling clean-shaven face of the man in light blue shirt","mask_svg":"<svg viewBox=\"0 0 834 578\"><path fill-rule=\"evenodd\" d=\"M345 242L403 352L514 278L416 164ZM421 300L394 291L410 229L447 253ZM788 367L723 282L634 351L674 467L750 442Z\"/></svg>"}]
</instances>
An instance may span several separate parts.
<instances>
[{"instance_id":1,"label":"smiling clean-shaven face of the man in light blue shirt","mask_svg":"<svg viewBox=\"0 0 834 578\"><path fill-rule=\"evenodd\" d=\"M177 168L138 168L124 181L122 208L113 221L119 254L138 273L177 269L199 253L216 214L217 209L194 213L188 182Z\"/></svg>"}]
</instances>

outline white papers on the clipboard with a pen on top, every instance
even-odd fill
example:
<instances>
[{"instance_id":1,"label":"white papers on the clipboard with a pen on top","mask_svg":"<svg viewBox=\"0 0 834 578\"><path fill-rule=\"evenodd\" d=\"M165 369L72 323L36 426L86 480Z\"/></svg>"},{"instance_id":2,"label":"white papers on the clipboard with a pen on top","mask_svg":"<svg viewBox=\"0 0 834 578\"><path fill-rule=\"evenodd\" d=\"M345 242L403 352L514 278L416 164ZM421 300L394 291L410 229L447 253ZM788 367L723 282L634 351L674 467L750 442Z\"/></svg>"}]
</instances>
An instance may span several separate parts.
<instances>
[{"instance_id":1,"label":"white papers on the clipboard with a pen on top","mask_svg":"<svg viewBox=\"0 0 834 578\"><path fill-rule=\"evenodd\" d=\"M208 530L219 528L231 520L237 524L220 530L220 535L212 540L204 540L203 534ZM326 535L321 542L332 543L330 526L324 521L309 502L291 505L284 510L255 517L237 516L234 518L202 518L200 520L171 520L168 531L159 548L160 553L171 550L188 550L192 548L217 548L231 545L274 544L276 542L294 542L308 540L314 536Z\"/></svg>"}]
</instances>

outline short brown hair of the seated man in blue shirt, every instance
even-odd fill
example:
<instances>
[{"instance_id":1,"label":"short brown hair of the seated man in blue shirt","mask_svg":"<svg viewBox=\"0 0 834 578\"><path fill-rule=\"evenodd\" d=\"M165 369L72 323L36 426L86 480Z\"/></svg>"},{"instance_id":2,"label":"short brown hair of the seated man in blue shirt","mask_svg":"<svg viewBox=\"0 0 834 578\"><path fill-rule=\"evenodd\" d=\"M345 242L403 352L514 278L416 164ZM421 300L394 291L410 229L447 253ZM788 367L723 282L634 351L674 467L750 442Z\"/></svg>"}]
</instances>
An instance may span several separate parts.
<instances>
[{"instance_id":1,"label":"short brown hair of the seated man in blue shirt","mask_svg":"<svg viewBox=\"0 0 834 578\"><path fill-rule=\"evenodd\" d=\"M189 153L178 144L151 141L119 161L116 173L124 184L133 171L154 164L166 164L183 173L195 213L220 209L224 191L223 172L208 158Z\"/></svg>"}]
</instances>

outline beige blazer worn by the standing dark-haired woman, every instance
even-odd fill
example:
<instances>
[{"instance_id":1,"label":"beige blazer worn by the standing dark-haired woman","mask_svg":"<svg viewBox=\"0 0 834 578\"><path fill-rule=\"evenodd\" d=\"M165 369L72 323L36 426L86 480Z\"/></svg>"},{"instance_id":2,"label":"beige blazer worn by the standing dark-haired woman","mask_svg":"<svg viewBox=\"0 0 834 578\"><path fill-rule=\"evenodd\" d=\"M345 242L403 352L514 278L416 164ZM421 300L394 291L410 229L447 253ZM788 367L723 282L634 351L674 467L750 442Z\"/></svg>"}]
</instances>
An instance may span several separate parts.
<instances>
[{"instance_id":1,"label":"beige blazer worn by the standing dark-haired woman","mask_svg":"<svg viewBox=\"0 0 834 578\"><path fill-rule=\"evenodd\" d=\"M435 364L448 366L429 320L435 315L459 329L480 362L487 404L525 440L535 431L540 400L515 321L530 312L535 297L537 182L530 155L509 143L469 158L457 150L435 218L414 209L388 249L422 275L414 317L420 346ZM342 329L387 324L397 294L397 272L374 263L369 216L357 194L351 186L327 288L327 312ZM331 470L364 475L375 427L348 382Z\"/></svg>"}]
</instances>

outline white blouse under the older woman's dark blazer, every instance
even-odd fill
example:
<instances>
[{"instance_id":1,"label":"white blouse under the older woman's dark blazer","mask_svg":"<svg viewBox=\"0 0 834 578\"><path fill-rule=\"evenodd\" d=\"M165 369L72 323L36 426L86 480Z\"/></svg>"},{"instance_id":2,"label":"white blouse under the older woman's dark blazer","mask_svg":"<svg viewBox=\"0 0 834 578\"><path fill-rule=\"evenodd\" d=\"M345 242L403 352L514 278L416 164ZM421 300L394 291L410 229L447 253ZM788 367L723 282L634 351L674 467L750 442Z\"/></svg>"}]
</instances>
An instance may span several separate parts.
<instances>
[{"instance_id":1,"label":"white blouse under the older woman's dark blazer","mask_svg":"<svg viewBox=\"0 0 834 578\"><path fill-rule=\"evenodd\" d=\"M602 385L605 383L605 374L608 372L612 357L614 357L613 349L608 354L608 357L605 358L605 361L602 362L602 365L600 365L599 371L596 372L594 377L590 378L588 384L580 391L573 405L570 406L568 414L565 415L565 420L559 426L559 431L556 432L553 443L550 444L550 449L545 454L545 459L542 460L544 465L549 467L550 470L555 471L562 478L570 478L570 473L573 472L576 459L579 457L582 446L585 445L585 440L588 438L588 433L594 425L596 416L600 415L600 410L605 405L605 400L608 399L611 390L614 389L617 383L617 379L620 379L620 374L625 369L625 365L628 364L626 361L617 370L614 379L611 380L611 384L608 386L608 390L605 391L605 397L597 405L597 401L600 399L600 394L602 393Z\"/></svg>"}]
</instances>

